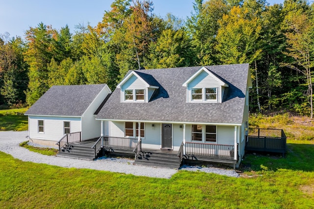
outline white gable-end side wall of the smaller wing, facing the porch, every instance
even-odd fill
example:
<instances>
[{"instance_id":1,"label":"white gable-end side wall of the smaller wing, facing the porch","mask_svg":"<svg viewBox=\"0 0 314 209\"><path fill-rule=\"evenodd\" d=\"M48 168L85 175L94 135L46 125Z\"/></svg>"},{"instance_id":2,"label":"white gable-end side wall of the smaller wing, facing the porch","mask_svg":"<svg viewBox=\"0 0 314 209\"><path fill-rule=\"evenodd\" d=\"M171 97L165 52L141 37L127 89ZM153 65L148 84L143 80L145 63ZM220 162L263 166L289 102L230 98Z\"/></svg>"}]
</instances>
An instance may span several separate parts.
<instances>
[{"instance_id":1,"label":"white gable-end side wall of the smaller wing, facing the porch","mask_svg":"<svg viewBox=\"0 0 314 209\"><path fill-rule=\"evenodd\" d=\"M96 120L94 113L104 101L109 92L106 88L96 96L94 101L87 107L82 116L82 140L97 138L101 135L101 121Z\"/></svg>"}]
</instances>

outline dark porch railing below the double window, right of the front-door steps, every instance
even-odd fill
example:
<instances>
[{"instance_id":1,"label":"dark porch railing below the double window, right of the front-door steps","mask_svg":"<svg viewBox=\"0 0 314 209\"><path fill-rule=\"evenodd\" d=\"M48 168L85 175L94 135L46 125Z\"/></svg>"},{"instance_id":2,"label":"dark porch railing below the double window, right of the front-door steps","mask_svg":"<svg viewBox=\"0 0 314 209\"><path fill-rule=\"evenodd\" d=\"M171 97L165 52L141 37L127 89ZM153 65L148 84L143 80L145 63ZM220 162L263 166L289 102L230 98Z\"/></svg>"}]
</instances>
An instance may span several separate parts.
<instances>
[{"instance_id":1,"label":"dark porch railing below the double window, right of the front-door steps","mask_svg":"<svg viewBox=\"0 0 314 209\"><path fill-rule=\"evenodd\" d=\"M235 146L185 142L185 155L234 159Z\"/></svg>"}]
</instances>

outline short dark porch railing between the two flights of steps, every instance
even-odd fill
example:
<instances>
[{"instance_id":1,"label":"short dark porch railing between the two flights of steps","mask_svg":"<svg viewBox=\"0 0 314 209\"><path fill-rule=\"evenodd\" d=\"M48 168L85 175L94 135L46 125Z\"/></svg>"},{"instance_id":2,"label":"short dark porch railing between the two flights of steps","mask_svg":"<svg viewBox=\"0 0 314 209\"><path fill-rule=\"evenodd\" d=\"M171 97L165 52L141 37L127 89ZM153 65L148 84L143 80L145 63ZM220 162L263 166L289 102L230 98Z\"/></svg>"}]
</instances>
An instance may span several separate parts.
<instances>
[{"instance_id":1,"label":"short dark porch railing between the two flights of steps","mask_svg":"<svg viewBox=\"0 0 314 209\"><path fill-rule=\"evenodd\" d=\"M133 150L137 145L137 138L121 138L104 136L104 148Z\"/></svg>"}]
</instances>

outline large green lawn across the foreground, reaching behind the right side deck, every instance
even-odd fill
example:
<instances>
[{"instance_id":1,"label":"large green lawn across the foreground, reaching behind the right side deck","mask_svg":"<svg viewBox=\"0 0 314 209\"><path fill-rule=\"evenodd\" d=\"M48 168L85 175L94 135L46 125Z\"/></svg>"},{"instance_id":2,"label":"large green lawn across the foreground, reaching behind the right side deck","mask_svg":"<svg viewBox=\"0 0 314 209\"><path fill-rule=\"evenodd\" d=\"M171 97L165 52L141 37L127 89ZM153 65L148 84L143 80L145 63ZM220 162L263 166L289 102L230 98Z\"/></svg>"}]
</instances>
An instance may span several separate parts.
<instances>
[{"instance_id":1,"label":"large green lawn across the foreground, reaching behind the right side deck","mask_svg":"<svg viewBox=\"0 0 314 209\"><path fill-rule=\"evenodd\" d=\"M296 129L294 119L259 117L251 125L288 132L288 152L246 155L240 178L188 171L171 179L137 177L23 162L0 152L0 208L313 208L314 141L294 138L304 128Z\"/></svg>"}]
</instances>

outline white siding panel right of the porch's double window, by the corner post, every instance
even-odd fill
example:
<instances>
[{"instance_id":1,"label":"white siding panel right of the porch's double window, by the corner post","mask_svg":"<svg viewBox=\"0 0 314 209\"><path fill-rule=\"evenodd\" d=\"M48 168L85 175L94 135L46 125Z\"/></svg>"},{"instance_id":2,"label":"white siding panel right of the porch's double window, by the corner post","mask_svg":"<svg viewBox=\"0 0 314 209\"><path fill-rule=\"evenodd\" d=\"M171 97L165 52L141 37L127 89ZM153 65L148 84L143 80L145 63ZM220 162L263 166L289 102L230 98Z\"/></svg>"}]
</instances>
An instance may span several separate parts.
<instances>
[{"instance_id":1,"label":"white siding panel right of the porch's double window, by the corner post","mask_svg":"<svg viewBox=\"0 0 314 209\"><path fill-rule=\"evenodd\" d=\"M217 144L235 145L235 127L217 126Z\"/></svg>"}]
</instances>

